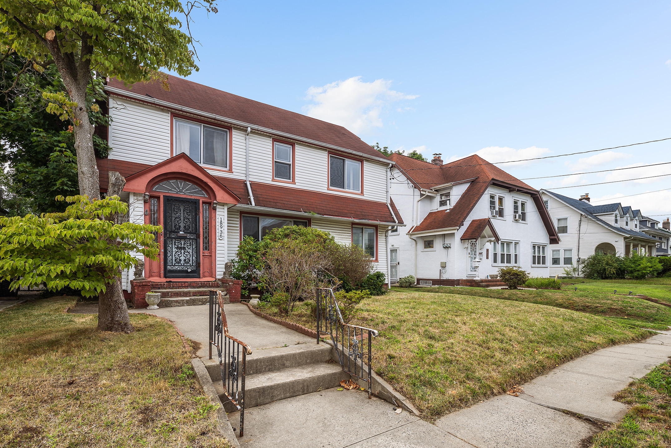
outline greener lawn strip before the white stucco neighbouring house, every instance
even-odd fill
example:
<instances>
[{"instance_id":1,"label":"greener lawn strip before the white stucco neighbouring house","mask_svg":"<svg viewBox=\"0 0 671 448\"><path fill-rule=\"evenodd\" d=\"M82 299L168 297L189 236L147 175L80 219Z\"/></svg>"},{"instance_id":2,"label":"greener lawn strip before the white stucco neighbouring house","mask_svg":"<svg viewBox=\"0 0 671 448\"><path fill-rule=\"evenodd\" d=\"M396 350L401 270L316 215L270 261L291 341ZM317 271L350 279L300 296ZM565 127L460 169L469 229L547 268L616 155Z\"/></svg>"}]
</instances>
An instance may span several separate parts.
<instances>
[{"instance_id":1,"label":"greener lawn strip before the white stucco neighbouring house","mask_svg":"<svg viewBox=\"0 0 671 448\"><path fill-rule=\"evenodd\" d=\"M591 280L590 280L591 281ZM615 322L626 323L641 328L653 328L655 330L666 330L671 326L671 308L648 302L637 298L636 296L614 295L613 290L634 294L646 294L653 298L659 298L666 301L664 294L668 293L671 287L655 285L646 287L637 287L631 289L634 285L628 284L609 284L591 281L592 283L575 283L574 285L564 285L568 290L556 289L490 289L481 287L423 287L417 288L422 292L433 292L439 294L460 294L464 296L478 296L487 298L496 298L502 300L515 300L517 302L527 302L532 304L541 304L565 308L566 310L575 310L589 314L598 314L614 320ZM575 291L578 287L578 291ZM647 289L646 289L647 288ZM660 288L660 289L656 289ZM661 289L666 288L666 289ZM408 291L403 288L392 288L395 291ZM656 289L656 292L650 292L650 289ZM640 292L643 291L643 292ZM668 299L671 302L671 298Z\"/></svg>"}]
</instances>

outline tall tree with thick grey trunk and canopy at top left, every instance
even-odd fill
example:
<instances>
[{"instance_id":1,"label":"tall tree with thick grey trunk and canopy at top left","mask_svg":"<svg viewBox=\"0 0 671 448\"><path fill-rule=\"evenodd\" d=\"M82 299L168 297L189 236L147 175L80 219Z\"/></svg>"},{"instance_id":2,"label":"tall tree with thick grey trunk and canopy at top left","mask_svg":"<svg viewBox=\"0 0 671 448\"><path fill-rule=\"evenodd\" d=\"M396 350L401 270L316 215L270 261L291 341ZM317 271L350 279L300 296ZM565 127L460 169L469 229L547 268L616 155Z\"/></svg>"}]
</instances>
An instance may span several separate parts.
<instances>
[{"instance_id":1,"label":"tall tree with thick grey trunk and canopy at top left","mask_svg":"<svg viewBox=\"0 0 671 448\"><path fill-rule=\"evenodd\" d=\"M91 73L125 83L160 79L164 88L166 76L160 69L190 75L198 69L191 51L190 14L201 6L217 12L215 0L188 2L186 8L179 0L0 0L0 44L32 60L37 71L51 64L58 69L64 91L42 96L49 101L48 112L72 123L80 194L100 198L89 118L99 106L87 99ZM177 15L186 18L188 34L179 29ZM110 185L109 190L117 187ZM101 294L99 309L105 309L106 316L125 313L127 318L118 280ZM107 313L109 306L117 309ZM99 329L119 328L101 317Z\"/></svg>"}]
</instances>

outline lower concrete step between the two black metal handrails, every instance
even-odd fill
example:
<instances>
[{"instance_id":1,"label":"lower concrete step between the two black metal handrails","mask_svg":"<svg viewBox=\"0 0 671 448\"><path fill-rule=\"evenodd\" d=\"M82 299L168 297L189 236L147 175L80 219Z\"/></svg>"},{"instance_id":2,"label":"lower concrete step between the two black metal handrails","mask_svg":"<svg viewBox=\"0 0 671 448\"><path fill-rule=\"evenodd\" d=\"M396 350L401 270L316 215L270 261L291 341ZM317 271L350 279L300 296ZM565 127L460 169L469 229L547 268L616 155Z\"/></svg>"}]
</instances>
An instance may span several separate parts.
<instances>
[{"instance_id":1,"label":"lower concrete step between the two black metal handrails","mask_svg":"<svg viewBox=\"0 0 671 448\"><path fill-rule=\"evenodd\" d=\"M340 364L332 362L246 375L245 408L335 388L340 385L341 380L349 378L350 375L342 371ZM227 412L235 410L223 393L221 381L215 382L214 385L225 410Z\"/></svg>"}]
</instances>

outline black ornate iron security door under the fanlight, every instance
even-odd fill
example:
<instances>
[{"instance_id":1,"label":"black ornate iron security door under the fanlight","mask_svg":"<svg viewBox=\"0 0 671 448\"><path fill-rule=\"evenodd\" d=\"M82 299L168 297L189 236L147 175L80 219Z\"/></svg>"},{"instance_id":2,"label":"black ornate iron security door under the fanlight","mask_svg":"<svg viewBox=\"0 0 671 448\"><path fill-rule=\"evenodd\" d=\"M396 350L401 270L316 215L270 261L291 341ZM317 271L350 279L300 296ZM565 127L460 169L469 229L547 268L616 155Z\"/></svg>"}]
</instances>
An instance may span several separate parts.
<instances>
[{"instance_id":1,"label":"black ornate iron security door under the fanlight","mask_svg":"<svg viewBox=\"0 0 671 448\"><path fill-rule=\"evenodd\" d=\"M199 201L167 196L164 201L165 276L199 278Z\"/></svg>"}]
</instances>

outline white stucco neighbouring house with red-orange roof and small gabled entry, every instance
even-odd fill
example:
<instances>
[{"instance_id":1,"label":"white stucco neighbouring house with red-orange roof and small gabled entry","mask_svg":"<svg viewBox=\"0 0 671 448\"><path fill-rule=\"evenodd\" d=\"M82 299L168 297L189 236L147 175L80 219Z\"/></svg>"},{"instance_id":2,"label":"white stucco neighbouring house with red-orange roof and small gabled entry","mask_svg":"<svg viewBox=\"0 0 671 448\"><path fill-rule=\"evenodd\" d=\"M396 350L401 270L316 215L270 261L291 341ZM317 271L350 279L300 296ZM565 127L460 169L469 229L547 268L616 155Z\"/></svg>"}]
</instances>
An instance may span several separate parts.
<instances>
[{"instance_id":1,"label":"white stucco neighbouring house with red-orange roof and small gabled entry","mask_svg":"<svg viewBox=\"0 0 671 448\"><path fill-rule=\"evenodd\" d=\"M443 164L392 154L391 197L410 227L391 233L392 280L420 285L474 285L500 267L548 277L558 244L539 192L472 155Z\"/></svg>"}]
</instances>

